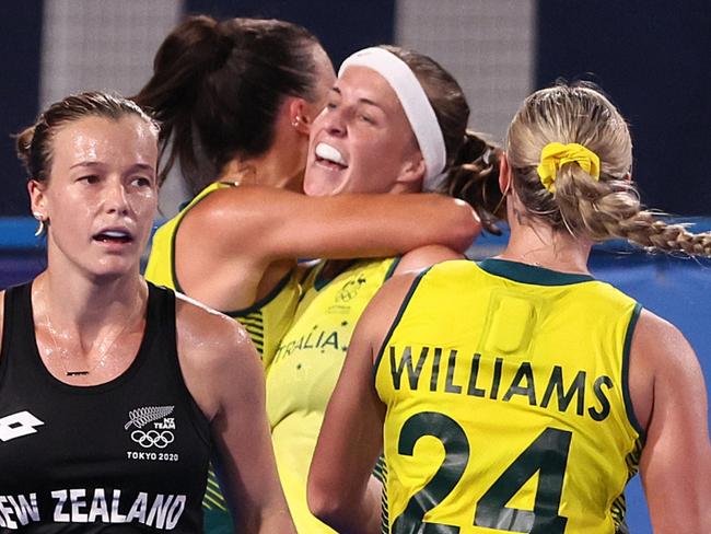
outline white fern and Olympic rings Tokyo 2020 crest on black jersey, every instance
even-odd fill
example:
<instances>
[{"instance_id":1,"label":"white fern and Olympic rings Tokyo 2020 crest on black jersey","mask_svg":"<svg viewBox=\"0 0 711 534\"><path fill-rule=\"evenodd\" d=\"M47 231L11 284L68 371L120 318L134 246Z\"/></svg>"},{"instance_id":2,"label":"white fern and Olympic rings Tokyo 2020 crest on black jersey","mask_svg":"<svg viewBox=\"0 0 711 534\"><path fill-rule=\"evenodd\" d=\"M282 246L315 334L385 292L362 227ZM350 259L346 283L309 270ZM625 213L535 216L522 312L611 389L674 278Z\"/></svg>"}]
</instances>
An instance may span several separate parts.
<instances>
[{"instance_id":1,"label":"white fern and Olympic rings Tokyo 2020 crest on black jersey","mask_svg":"<svg viewBox=\"0 0 711 534\"><path fill-rule=\"evenodd\" d=\"M175 441L175 418L170 417L174 409L175 406L144 406L128 413L124 430L130 430L131 440L141 448L141 451L129 451L129 458L177 461L176 454L161 452ZM161 453L156 454L156 451Z\"/></svg>"}]
</instances>

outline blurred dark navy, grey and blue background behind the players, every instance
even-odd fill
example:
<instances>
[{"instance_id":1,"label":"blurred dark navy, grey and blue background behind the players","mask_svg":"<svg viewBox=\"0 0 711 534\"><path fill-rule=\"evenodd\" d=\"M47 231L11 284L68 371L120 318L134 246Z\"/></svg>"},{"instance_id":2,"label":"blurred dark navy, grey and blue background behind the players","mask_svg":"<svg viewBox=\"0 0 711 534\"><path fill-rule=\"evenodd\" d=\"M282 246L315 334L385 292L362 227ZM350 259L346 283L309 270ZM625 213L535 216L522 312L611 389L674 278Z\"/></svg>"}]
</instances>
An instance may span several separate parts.
<instances>
[{"instance_id":1,"label":"blurred dark navy, grey and blue background behind the players","mask_svg":"<svg viewBox=\"0 0 711 534\"><path fill-rule=\"evenodd\" d=\"M429 54L465 89L470 126L494 140L531 91L558 78L595 81L630 123L645 204L711 229L708 0L23 0L0 3L0 288L44 265L10 135L70 92L135 93L160 42L186 13L299 22L336 65L381 43ZM178 181L168 179L163 217L184 199ZM485 236L470 253L500 246ZM675 323L711 383L711 263L613 244L594 252L592 268ZM628 523L632 533L651 533L639 477L628 489Z\"/></svg>"}]
</instances>

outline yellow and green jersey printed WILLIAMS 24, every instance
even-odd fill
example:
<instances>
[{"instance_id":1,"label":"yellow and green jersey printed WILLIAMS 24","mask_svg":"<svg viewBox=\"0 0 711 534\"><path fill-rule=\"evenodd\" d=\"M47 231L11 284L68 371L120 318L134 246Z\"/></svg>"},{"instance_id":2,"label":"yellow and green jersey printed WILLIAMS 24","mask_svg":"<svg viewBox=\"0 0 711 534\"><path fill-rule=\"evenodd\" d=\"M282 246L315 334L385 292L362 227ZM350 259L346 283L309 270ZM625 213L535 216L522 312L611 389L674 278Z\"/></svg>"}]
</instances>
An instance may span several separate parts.
<instances>
[{"instance_id":1,"label":"yellow and green jersey printed WILLIAMS 24","mask_svg":"<svg viewBox=\"0 0 711 534\"><path fill-rule=\"evenodd\" d=\"M626 532L639 312L590 276L514 262L418 277L374 368L391 532Z\"/></svg>"}]
</instances>

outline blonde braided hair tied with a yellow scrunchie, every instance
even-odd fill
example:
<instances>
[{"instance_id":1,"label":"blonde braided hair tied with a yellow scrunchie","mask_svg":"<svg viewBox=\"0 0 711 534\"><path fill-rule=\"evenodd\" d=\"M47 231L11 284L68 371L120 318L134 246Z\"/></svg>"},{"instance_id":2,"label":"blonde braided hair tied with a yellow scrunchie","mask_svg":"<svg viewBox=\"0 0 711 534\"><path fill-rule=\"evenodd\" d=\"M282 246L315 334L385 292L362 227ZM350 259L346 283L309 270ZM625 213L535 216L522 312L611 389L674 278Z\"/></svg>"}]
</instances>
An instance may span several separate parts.
<instances>
[{"instance_id":1,"label":"blonde braided hair tied with a yellow scrunchie","mask_svg":"<svg viewBox=\"0 0 711 534\"><path fill-rule=\"evenodd\" d=\"M548 191L536 167L550 142L579 143L597 154L599 179L575 162L564 163L555 191ZM527 214L553 229L596 242L625 239L648 248L711 256L711 233L667 224L642 207L630 178L629 128L596 88L556 85L528 96L509 127L506 153Z\"/></svg>"}]
</instances>

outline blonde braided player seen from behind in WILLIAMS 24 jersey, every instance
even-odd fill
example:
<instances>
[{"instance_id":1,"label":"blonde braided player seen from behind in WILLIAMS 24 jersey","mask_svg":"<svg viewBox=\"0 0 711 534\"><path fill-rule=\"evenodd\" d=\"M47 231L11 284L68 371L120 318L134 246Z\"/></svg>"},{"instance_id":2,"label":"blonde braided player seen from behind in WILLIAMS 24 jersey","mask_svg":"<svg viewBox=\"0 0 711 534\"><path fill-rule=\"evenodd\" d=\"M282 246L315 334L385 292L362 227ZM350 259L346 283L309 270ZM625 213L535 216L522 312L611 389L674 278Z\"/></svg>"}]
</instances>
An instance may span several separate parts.
<instances>
[{"instance_id":1,"label":"blonde braided player seen from behind in WILLIAMS 24 jersey","mask_svg":"<svg viewBox=\"0 0 711 534\"><path fill-rule=\"evenodd\" d=\"M655 533L709 530L696 355L586 265L614 237L711 256L709 233L641 208L631 165L596 89L525 101L501 160L504 252L392 279L357 327L311 467L318 516L378 531L368 481L384 446L393 534L626 533L638 468Z\"/></svg>"}]
</instances>

